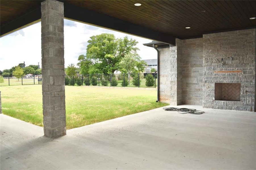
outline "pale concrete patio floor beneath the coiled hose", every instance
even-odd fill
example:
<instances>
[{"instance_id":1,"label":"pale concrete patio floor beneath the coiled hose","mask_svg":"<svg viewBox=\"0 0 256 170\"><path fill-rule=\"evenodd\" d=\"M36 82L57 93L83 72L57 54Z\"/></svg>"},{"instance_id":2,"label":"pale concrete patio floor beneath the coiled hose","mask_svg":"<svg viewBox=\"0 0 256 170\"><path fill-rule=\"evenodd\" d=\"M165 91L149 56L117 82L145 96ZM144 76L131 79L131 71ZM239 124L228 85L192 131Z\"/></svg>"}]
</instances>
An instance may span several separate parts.
<instances>
[{"instance_id":1,"label":"pale concrete patio floor beneath the coiled hose","mask_svg":"<svg viewBox=\"0 0 256 170\"><path fill-rule=\"evenodd\" d=\"M170 106L168 106L170 107ZM67 130L1 114L1 169L256 169L256 113L162 108Z\"/></svg>"}]
</instances>

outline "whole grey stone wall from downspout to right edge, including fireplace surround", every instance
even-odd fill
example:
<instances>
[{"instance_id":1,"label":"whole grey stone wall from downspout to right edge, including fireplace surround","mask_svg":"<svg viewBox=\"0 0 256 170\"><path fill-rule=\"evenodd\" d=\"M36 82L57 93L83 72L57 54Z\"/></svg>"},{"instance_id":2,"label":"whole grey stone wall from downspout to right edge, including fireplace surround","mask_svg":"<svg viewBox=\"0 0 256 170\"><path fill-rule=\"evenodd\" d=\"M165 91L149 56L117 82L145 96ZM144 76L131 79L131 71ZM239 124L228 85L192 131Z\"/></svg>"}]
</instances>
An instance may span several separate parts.
<instances>
[{"instance_id":1,"label":"whole grey stone wall from downspout to right edge, including fireplace surround","mask_svg":"<svg viewBox=\"0 0 256 170\"><path fill-rule=\"evenodd\" d=\"M255 111L255 29L176 39L159 52L160 101ZM235 70L242 73L214 73ZM241 83L241 101L215 101L215 83Z\"/></svg>"}]
</instances>

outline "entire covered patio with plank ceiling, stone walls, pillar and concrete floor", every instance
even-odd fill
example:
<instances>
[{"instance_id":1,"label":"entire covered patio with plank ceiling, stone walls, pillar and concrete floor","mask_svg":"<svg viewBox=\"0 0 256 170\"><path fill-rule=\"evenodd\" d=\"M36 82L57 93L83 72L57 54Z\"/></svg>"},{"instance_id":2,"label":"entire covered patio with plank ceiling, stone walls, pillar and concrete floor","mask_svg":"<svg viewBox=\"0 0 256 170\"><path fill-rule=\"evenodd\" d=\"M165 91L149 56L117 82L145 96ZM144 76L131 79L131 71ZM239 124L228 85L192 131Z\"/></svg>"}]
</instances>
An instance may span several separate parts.
<instances>
[{"instance_id":1,"label":"entire covered patio with plank ceiling, stone walls, pillar and concrete floor","mask_svg":"<svg viewBox=\"0 0 256 170\"><path fill-rule=\"evenodd\" d=\"M256 1L0 6L1 37L41 21L44 125L1 114L1 169L256 168ZM159 101L205 113L158 108L66 131L64 18L154 40Z\"/></svg>"}]
</instances>

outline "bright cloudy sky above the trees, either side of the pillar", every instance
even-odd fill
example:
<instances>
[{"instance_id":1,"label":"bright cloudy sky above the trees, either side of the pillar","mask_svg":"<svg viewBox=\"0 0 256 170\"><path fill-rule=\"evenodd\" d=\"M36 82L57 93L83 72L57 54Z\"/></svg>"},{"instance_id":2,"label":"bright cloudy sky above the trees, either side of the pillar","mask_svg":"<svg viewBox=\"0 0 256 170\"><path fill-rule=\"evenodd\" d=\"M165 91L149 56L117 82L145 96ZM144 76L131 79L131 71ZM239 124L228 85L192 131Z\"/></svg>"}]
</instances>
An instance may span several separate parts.
<instances>
[{"instance_id":1,"label":"bright cloudy sky above the trees, either side of the pillar","mask_svg":"<svg viewBox=\"0 0 256 170\"><path fill-rule=\"evenodd\" d=\"M141 59L157 58L155 49L143 45L151 42L150 39L64 19L65 67L71 63L76 65L78 56L86 54L90 37L101 33L111 33L116 38L128 36L129 39L136 39ZM41 22L0 38L0 70L10 69L24 61L26 66L38 65L39 62L41 68Z\"/></svg>"}]
</instances>

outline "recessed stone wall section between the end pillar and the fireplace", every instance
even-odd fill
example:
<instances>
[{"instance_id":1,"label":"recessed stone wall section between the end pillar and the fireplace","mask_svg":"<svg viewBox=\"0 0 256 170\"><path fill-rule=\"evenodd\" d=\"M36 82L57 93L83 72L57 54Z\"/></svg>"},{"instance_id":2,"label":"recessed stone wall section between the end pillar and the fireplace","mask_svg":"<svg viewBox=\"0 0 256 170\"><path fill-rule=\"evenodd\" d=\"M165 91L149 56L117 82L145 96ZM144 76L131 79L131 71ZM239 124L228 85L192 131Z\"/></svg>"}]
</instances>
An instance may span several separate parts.
<instances>
[{"instance_id":1,"label":"recessed stone wall section between the end pillar and the fireplace","mask_svg":"<svg viewBox=\"0 0 256 170\"><path fill-rule=\"evenodd\" d=\"M202 105L203 38L182 41L182 104Z\"/></svg>"}]
</instances>

